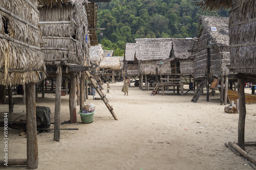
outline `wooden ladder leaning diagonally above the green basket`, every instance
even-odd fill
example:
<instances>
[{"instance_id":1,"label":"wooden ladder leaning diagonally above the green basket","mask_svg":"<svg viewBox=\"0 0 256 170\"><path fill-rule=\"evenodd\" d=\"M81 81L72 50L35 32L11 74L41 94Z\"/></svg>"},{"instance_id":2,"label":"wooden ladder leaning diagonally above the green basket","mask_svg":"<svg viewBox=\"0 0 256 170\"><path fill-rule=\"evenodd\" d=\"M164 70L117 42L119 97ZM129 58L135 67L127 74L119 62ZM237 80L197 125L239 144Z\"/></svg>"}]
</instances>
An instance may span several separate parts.
<instances>
[{"instance_id":1,"label":"wooden ladder leaning diagonally above the green basket","mask_svg":"<svg viewBox=\"0 0 256 170\"><path fill-rule=\"evenodd\" d=\"M93 76L89 73L89 71L85 71L87 77L90 79L90 82L92 83L93 87L96 89L96 91L98 92L98 94L100 95L100 98L102 99L102 101L104 102L104 104L106 105L106 107L109 109L110 113L112 114L112 116L115 118L115 120L118 120L114 111L113 111L113 106L110 106L110 104L108 103L108 100L106 99L106 96L104 95L104 93L100 90L99 86L96 84Z\"/></svg>"}]
</instances>

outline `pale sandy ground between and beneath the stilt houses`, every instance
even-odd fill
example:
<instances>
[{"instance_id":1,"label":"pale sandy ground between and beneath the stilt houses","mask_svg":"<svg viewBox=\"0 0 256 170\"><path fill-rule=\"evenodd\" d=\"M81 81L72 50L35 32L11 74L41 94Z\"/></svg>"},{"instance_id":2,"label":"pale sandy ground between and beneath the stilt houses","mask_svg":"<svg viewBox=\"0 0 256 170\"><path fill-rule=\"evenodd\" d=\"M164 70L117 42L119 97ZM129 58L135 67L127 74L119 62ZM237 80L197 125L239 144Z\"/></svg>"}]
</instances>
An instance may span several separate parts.
<instances>
[{"instance_id":1,"label":"pale sandy ground between and beneath the stilt houses","mask_svg":"<svg viewBox=\"0 0 256 170\"><path fill-rule=\"evenodd\" d=\"M85 103L96 106L93 123L61 125L79 130L62 130L59 142L53 141L53 133L37 135L38 169L252 169L224 145L237 140L239 114L224 113L218 91L210 95L209 102L203 93L193 103L193 92L180 96L169 91L164 96L151 96L151 91L141 91L133 84L129 95L124 96L122 84L110 84L110 93L105 93L119 120L114 120L101 100L92 100L89 95ZM106 84L103 88L106 92ZM52 122L54 99L53 93L47 93L36 103L51 108ZM25 115L22 96L14 96L14 103L13 119ZM69 95L61 96L61 122L70 119L68 106ZM246 105L246 141L255 140L255 106ZM2 120L8 105L0 108ZM81 122L79 114L77 121ZM3 128L0 133L3 140ZM19 133L9 129L9 159L26 158L26 136ZM3 147L1 142L1 159Z\"/></svg>"}]
</instances>

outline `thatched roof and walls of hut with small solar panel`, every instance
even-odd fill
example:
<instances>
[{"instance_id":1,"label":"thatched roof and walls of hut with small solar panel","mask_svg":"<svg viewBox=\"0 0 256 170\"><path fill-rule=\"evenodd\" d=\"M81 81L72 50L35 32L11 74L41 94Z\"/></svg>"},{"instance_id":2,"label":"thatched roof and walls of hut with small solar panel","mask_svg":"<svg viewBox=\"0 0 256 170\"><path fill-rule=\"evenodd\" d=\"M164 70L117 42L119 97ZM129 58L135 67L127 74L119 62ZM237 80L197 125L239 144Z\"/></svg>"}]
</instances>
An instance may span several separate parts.
<instances>
[{"instance_id":1,"label":"thatched roof and walls of hut with small solar panel","mask_svg":"<svg viewBox=\"0 0 256 170\"><path fill-rule=\"evenodd\" d=\"M229 74L228 20L228 17L201 16L202 29L194 59L196 78L206 74L207 47L210 48L210 76L219 77Z\"/></svg>"}]
</instances>

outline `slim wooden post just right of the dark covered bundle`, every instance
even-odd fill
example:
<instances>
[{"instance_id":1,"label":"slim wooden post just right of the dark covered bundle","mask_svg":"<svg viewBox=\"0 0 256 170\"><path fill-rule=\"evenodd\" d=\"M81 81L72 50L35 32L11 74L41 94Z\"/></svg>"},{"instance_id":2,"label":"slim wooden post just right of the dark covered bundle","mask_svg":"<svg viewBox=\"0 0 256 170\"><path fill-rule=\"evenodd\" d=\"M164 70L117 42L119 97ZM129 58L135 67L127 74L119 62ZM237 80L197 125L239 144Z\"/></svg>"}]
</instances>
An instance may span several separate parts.
<instances>
[{"instance_id":1,"label":"slim wooden post just right of the dark covered bundle","mask_svg":"<svg viewBox=\"0 0 256 170\"><path fill-rule=\"evenodd\" d=\"M54 137L53 140L59 141L60 136L60 103L61 103L61 79L62 79L62 66L58 66L56 75L56 88L55 88L55 108L54 108Z\"/></svg>"}]
</instances>

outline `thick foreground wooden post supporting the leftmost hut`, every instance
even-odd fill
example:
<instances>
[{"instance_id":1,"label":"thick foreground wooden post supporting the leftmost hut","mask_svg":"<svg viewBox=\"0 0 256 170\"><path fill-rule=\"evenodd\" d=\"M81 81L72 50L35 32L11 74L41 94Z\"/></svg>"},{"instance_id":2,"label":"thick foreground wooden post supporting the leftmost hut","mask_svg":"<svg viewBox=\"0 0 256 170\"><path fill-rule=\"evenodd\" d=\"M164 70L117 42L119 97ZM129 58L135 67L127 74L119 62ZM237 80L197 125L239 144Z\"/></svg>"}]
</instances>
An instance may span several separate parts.
<instances>
[{"instance_id":1,"label":"thick foreground wooden post supporting the leftmost hut","mask_svg":"<svg viewBox=\"0 0 256 170\"><path fill-rule=\"evenodd\" d=\"M35 83L27 83L26 89L27 168L36 169L38 167L38 149L36 138Z\"/></svg>"}]
</instances>

